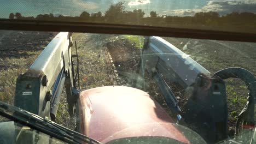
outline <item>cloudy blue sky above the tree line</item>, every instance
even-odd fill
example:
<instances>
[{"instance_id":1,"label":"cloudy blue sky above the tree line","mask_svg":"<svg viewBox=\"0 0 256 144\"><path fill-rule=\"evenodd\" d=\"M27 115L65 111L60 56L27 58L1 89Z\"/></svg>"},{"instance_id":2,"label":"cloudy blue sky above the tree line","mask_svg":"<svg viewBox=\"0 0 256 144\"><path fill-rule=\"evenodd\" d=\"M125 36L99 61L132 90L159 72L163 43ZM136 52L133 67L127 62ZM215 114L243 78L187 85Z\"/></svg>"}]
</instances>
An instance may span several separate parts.
<instances>
[{"instance_id":1,"label":"cloudy blue sky above the tree line","mask_svg":"<svg viewBox=\"0 0 256 144\"><path fill-rule=\"evenodd\" d=\"M38 14L62 14L79 16L83 11L96 13L106 11L111 4L121 0L1 0L0 17L8 18L10 13L24 16ZM149 16L150 11L160 15L193 16L198 12L216 11L225 15L236 11L256 13L256 0L126 0L126 10L142 9Z\"/></svg>"}]
</instances>

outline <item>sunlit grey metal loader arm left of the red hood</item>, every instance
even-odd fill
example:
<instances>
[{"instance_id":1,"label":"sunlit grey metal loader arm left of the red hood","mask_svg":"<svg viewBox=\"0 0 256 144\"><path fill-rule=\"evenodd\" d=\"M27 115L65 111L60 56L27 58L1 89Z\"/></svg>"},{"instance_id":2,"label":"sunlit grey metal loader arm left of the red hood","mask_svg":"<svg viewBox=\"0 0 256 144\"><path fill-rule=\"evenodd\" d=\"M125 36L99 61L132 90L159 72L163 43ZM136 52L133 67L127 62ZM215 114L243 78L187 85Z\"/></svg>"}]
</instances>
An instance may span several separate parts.
<instances>
[{"instance_id":1,"label":"sunlit grey metal loader arm left of the red hood","mask_svg":"<svg viewBox=\"0 0 256 144\"><path fill-rule=\"evenodd\" d=\"M66 87L69 113L74 113L72 74L72 33L60 32L26 73L16 81L14 105L54 121L63 85ZM51 91L52 90L52 91Z\"/></svg>"}]
</instances>

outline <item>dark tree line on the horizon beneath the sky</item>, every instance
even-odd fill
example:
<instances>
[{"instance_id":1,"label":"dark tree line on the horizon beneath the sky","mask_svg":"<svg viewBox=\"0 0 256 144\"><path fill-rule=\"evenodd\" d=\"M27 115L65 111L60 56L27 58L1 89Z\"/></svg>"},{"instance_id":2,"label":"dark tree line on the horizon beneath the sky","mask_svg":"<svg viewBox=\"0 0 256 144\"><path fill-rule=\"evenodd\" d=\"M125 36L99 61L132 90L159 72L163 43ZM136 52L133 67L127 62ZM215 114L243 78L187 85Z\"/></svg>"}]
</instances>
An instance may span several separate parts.
<instances>
[{"instance_id":1,"label":"dark tree line on the horizon beneath the sky","mask_svg":"<svg viewBox=\"0 0 256 144\"><path fill-rule=\"evenodd\" d=\"M95 22L95 23L115 23L126 25L147 25L160 27L179 28L201 28L220 31L249 31L256 32L256 15L254 13L230 13L220 16L218 13L200 12L194 16L168 16L159 15L156 11L150 11L145 17L142 9L133 11L125 10L124 2L112 4L102 14L88 13L83 11L80 16L54 16L53 14L39 14L36 17L22 16L20 13L10 13L9 19L24 20L44 20L44 21L72 21L72 22Z\"/></svg>"}]
</instances>

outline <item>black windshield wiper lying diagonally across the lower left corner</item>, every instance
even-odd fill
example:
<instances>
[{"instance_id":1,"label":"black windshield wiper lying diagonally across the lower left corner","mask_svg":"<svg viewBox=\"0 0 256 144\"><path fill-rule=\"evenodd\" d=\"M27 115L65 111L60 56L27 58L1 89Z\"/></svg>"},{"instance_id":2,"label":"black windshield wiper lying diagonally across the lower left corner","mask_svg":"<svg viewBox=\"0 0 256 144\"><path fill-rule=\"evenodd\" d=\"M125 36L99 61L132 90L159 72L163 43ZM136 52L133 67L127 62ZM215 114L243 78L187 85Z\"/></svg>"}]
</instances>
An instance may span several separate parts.
<instances>
[{"instance_id":1,"label":"black windshield wiper lying diagonally across the lower left corner","mask_svg":"<svg viewBox=\"0 0 256 144\"><path fill-rule=\"evenodd\" d=\"M88 136L50 121L47 117L39 117L19 107L3 103L2 101L0 101L0 115L68 143L100 143Z\"/></svg>"}]
</instances>

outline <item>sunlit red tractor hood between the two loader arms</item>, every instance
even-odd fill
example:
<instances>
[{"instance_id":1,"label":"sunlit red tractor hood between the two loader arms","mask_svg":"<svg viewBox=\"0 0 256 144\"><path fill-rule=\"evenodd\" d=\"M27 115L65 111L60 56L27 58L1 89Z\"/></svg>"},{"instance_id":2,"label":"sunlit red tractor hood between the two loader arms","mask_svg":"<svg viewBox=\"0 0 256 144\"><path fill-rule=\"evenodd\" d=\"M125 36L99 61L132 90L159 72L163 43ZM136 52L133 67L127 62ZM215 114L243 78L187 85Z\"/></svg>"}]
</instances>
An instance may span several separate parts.
<instances>
[{"instance_id":1,"label":"sunlit red tractor hood between the two loader arms","mask_svg":"<svg viewBox=\"0 0 256 144\"><path fill-rule=\"evenodd\" d=\"M79 128L102 143L124 137L162 136L190 143L146 92L125 86L97 87L79 97Z\"/></svg>"}]
</instances>

